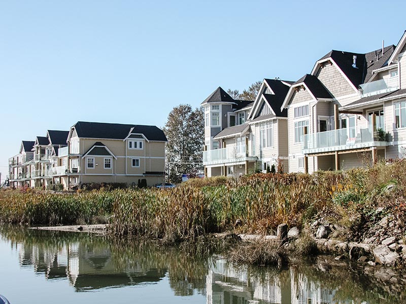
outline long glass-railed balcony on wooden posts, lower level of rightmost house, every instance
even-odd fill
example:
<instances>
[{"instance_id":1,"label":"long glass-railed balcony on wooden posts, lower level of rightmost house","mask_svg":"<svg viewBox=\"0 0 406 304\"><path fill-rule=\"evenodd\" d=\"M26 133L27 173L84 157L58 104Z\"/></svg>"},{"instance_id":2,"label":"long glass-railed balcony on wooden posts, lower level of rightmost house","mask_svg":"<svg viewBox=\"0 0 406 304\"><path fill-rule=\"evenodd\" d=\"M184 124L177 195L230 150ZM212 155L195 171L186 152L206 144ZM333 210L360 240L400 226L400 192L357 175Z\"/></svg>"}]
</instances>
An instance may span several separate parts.
<instances>
[{"instance_id":1,"label":"long glass-railed balcony on wooden posts, lower level of rightmost house","mask_svg":"<svg viewBox=\"0 0 406 304\"><path fill-rule=\"evenodd\" d=\"M303 154L328 153L332 151L387 146L384 138L373 136L369 129L346 128L306 134L303 136Z\"/></svg>"}]
</instances>

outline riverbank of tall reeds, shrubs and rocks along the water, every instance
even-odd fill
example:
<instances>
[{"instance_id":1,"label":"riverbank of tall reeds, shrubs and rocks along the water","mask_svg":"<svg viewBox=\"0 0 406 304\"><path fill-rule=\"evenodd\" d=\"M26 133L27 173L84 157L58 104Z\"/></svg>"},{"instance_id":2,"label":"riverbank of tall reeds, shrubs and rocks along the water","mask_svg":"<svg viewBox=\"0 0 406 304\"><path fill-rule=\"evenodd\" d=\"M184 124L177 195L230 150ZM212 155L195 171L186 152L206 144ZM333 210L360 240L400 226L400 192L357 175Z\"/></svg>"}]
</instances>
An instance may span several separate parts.
<instances>
[{"instance_id":1,"label":"riverbank of tall reeds, shrubs and rocks along the water","mask_svg":"<svg viewBox=\"0 0 406 304\"><path fill-rule=\"evenodd\" d=\"M25 226L109 223L112 235L168 244L222 232L277 235L278 225L286 223L319 239L385 245L384 255L400 256L391 262L396 265L406 236L405 168L402 159L312 175L192 180L165 191L0 191L0 221ZM322 232L327 236L317 236Z\"/></svg>"}]
</instances>

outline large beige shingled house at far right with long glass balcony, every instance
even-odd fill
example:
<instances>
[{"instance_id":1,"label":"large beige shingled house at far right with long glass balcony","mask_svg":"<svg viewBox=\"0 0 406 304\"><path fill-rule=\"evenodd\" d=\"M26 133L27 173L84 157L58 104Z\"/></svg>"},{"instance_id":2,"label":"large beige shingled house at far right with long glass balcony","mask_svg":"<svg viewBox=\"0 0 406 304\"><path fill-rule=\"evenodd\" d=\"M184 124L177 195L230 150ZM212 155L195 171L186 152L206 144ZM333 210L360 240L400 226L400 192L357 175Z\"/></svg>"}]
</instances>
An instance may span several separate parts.
<instances>
[{"instance_id":1,"label":"large beige shingled house at far right with long glass balcony","mask_svg":"<svg viewBox=\"0 0 406 304\"><path fill-rule=\"evenodd\" d=\"M281 107L288 110L289 172L404 156L405 40L365 54L333 50L292 84Z\"/></svg>"}]
</instances>

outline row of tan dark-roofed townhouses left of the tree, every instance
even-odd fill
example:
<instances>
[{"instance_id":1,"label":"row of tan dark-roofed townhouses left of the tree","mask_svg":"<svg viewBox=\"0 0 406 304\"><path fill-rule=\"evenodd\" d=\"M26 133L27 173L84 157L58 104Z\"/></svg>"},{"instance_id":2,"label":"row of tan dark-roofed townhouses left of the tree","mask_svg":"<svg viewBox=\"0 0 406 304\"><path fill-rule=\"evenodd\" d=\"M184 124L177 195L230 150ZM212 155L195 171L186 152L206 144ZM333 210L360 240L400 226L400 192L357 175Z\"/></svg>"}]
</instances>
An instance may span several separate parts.
<instances>
[{"instance_id":1,"label":"row of tan dark-roofed townhouses left of the tree","mask_svg":"<svg viewBox=\"0 0 406 304\"><path fill-rule=\"evenodd\" d=\"M166 141L155 126L77 122L69 131L48 130L47 136L37 136L34 142L23 141L26 148L10 159L11 185L60 183L69 188L90 182L143 182L152 186L164 181Z\"/></svg>"}]
</instances>

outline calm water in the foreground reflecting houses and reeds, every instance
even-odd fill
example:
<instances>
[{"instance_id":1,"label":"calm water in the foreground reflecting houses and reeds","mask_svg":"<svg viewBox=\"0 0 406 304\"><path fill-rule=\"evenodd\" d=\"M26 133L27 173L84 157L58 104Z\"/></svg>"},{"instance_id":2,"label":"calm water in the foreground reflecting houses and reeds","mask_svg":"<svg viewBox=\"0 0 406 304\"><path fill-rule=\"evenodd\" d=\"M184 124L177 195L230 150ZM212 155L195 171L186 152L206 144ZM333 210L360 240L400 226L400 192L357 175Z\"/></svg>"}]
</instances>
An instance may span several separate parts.
<instances>
[{"instance_id":1,"label":"calm water in the foreground reflecting houses and reeds","mask_svg":"<svg viewBox=\"0 0 406 304\"><path fill-rule=\"evenodd\" d=\"M18 303L404 303L403 276L321 257L236 267L207 244L162 247L0 226L0 294ZM368 273L368 274L365 274Z\"/></svg>"}]
</instances>

